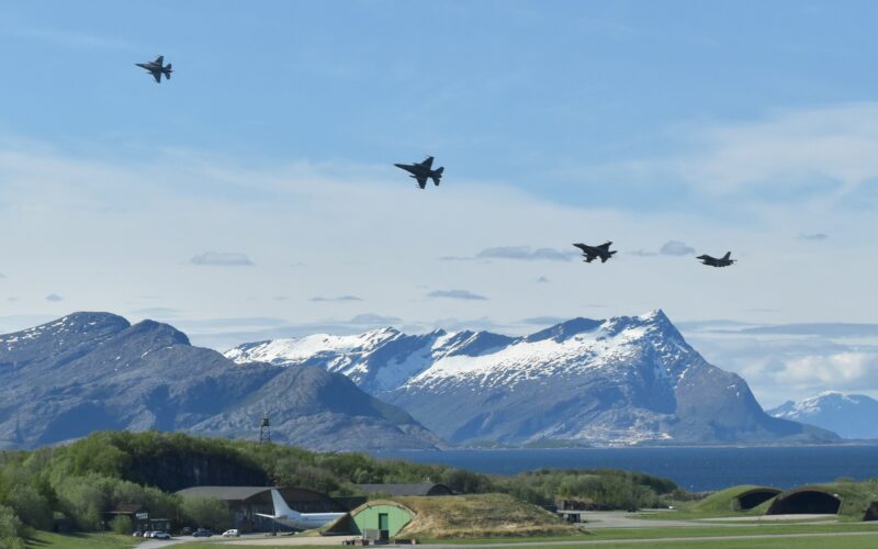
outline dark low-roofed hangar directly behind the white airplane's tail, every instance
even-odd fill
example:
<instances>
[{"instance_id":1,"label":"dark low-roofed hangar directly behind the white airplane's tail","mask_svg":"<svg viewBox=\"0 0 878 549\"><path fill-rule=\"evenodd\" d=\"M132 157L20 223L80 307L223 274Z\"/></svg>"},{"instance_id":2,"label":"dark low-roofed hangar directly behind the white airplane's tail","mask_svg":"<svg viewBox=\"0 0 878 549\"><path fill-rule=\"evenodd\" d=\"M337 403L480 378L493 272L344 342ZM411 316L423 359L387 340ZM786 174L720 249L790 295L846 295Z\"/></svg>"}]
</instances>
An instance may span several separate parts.
<instances>
[{"instance_id":1,"label":"dark low-roofed hangar directly behind the white airplane's tail","mask_svg":"<svg viewBox=\"0 0 878 549\"><path fill-rule=\"evenodd\" d=\"M278 490L291 508L300 513L344 513L348 507L326 494L304 488L277 486L192 486L177 492L187 497L215 497L228 504L233 513L234 527L243 533L277 531L282 527L271 518L274 514L271 490Z\"/></svg>"}]
</instances>

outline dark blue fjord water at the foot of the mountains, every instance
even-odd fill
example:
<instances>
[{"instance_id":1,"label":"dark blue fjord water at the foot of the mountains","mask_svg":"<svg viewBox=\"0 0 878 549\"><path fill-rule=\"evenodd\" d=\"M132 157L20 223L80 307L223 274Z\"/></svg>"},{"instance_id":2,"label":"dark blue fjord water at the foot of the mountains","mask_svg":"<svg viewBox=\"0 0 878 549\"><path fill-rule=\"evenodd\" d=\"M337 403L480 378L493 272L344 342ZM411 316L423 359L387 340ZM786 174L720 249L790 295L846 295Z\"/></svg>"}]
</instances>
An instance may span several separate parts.
<instances>
[{"instance_id":1,"label":"dark blue fjord water at the foot of the mountains","mask_svg":"<svg viewBox=\"0 0 878 549\"><path fill-rule=\"evenodd\" d=\"M735 484L790 489L842 477L878 478L878 445L382 451L374 456L442 463L489 474L543 468L623 469L672 479L697 492Z\"/></svg>"}]
</instances>

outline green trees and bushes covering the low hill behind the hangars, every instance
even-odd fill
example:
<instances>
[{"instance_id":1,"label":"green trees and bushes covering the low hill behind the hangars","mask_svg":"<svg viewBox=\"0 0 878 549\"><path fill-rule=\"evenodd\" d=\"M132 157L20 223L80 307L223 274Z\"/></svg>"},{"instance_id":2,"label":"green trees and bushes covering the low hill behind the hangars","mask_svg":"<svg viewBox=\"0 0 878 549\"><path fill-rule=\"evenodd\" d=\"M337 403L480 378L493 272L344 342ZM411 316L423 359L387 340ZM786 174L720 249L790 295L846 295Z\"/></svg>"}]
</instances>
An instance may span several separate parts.
<instances>
[{"instance_id":1,"label":"green trees and bushes covering the low hill behind the hangars","mask_svg":"<svg viewBox=\"0 0 878 549\"><path fill-rule=\"evenodd\" d=\"M534 471L494 477L444 466L382 460L364 453L318 453L274 444L170 433L94 433L76 442L0 453L0 547L23 548L27 528L59 522L81 531L131 531L104 512L139 503L176 527L223 528L224 504L183 500L175 492L198 484L302 486L329 495L361 495L356 484L436 482L457 493L507 493L551 505L559 498L609 508L662 504L682 495L672 481L615 470ZM206 477L206 478L205 478ZM206 482L205 482L206 481ZM226 513L227 515L227 513Z\"/></svg>"}]
</instances>

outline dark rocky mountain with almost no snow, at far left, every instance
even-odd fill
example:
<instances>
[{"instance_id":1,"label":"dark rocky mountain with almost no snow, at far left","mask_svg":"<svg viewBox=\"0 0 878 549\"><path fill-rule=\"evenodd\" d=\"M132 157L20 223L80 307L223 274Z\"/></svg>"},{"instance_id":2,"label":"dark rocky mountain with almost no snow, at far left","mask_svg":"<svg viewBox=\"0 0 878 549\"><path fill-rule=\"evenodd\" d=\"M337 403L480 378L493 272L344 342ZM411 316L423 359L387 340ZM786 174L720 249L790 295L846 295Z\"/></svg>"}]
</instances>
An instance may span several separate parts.
<instances>
[{"instance_id":1,"label":"dark rocky mountain with almost no snow, at far left","mask_svg":"<svg viewBox=\"0 0 878 549\"><path fill-rule=\"evenodd\" d=\"M323 368L241 367L167 324L75 313L0 336L0 448L99 429L181 430L318 450L428 449L442 441L402 410Z\"/></svg>"}]
</instances>

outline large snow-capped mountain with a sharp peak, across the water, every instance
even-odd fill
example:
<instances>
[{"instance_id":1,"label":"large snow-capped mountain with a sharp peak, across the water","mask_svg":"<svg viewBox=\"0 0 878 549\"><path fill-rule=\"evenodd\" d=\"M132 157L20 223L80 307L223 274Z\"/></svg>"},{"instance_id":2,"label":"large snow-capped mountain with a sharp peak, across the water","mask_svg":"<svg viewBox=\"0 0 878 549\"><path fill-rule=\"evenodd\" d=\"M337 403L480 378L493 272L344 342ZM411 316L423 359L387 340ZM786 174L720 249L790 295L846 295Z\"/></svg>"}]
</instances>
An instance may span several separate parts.
<instances>
[{"instance_id":1,"label":"large snow-capped mountain with a sharp peak, across the water","mask_svg":"<svg viewBox=\"0 0 878 549\"><path fill-rule=\"evenodd\" d=\"M237 362L322 366L455 442L774 442L837 437L768 416L661 311L575 318L527 337L391 328L246 344Z\"/></svg>"}]
</instances>

